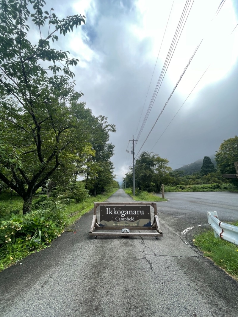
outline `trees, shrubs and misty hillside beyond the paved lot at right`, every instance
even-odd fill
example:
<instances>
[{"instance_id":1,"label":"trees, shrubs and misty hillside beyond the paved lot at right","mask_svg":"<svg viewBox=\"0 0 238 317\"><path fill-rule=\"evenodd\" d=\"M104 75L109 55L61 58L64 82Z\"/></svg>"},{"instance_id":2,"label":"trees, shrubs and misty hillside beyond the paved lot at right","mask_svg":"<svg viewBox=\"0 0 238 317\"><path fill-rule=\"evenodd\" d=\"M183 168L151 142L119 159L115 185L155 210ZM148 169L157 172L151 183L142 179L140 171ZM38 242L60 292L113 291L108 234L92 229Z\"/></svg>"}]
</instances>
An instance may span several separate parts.
<instances>
[{"instance_id":1,"label":"trees, shrubs and misty hillside beyond the paved lot at right","mask_svg":"<svg viewBox=\"0 0 238 317\"><path fill-rule=\"evenodd\" d=\"M238 137L221 143L213 158L185 165L177 170L169 167L168 159L156 153L142 152L135 164L135 186L139 191L238 191L237 178L223 178L223 174L238 174ZM237 167L238 169L238 167ZM133 186L133 170L129 168L123 179L122 188Z\"/></svg>"}]
</instances>

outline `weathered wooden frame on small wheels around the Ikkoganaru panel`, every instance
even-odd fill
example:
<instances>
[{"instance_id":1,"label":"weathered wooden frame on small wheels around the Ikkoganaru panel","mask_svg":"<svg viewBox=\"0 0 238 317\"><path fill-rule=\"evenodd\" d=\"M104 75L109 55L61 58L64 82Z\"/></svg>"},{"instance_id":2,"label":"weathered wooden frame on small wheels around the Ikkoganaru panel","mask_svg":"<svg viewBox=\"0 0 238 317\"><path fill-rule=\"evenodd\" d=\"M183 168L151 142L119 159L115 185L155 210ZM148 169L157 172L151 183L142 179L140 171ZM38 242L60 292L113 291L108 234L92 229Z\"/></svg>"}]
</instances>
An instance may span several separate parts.
<instances>
[{"instance_id":1,"label":"weathered wooden frame on small wheels around the Ikkoganaru panel","mask_svg":"<svg viewBox=\"0 0 238 317\"><path fill-rule=\"evenodd\" d=\"M154 221L151 227L132 227L132 226L103 226L101 227L98 220L96 209L99 206L108 206L108 205L119 205L119 206L130 206L130 205L150 205L154 208ZM106 232L107 230L122 230L122 229L129 229L129 230L148 230L149 232ZM102 230L102 232L101 232ZM156 232L152 232L156 231ZM94 203L94 210L93 210L93 221L91 225L91 229L89 231L90 236L155 236L158 239L159 236L163 236L163 233L160 230L159 219L157 214L157 206L154 202L129 202L129 203L113 203L113 202L101 202L101 203Z\"/></svg>"}]
</instances>

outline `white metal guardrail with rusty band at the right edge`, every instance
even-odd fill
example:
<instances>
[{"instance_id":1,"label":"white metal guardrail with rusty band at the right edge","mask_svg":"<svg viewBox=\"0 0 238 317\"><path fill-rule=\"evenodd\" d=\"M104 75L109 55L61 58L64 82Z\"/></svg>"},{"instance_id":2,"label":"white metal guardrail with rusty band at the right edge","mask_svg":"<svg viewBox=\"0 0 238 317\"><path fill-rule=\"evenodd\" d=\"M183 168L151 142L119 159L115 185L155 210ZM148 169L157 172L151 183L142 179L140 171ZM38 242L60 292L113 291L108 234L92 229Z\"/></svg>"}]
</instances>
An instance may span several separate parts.
<instances>
[{"instance_id":1,"label":"white metal guardrail with rusty band at the right edge","mask_svg":"<svg viewBox=\"0 0 238 317\"><path fill-rule=\"evenodd\" d=\"M215 236L238 245L238 227L220 221L216 211L208 211L208 223L214 229Z\"/></svg>"}]
</instances>

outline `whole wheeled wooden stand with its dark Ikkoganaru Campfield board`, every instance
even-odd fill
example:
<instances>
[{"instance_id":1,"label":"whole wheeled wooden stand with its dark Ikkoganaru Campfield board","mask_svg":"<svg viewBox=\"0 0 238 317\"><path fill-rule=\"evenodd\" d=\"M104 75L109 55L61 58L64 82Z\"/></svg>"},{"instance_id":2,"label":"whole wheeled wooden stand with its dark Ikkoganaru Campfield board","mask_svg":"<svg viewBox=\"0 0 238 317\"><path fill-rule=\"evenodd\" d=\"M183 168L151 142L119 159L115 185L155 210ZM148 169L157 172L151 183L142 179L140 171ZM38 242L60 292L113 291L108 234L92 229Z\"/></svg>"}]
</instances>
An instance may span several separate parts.
<instances>
[{"instance_id":1,"label":"whole wheeled wooden stand with its dark Ikkoganaru Campfield board","mask_svg":"<svg viewBox=\"0 0 238 317\"><path fill-rule=\"evenodd\" d=\"M154 209L154 219L151 224L150 207ZM100 207L100 223L97 217L97 208ZM125 229L125 230L123 230ZM143 232L128 232L128 230ZM113 230L108 232L108 230ZM120 232L116 232L116 230ZM148 231L148 232L145 232ZM124 231L124 232L122 232ZM127 231L127 232L126 232ZM91 236L163 236L154 202L131 203L94 203L92 226L89 231Z\"/></svg>"}]
</instances>

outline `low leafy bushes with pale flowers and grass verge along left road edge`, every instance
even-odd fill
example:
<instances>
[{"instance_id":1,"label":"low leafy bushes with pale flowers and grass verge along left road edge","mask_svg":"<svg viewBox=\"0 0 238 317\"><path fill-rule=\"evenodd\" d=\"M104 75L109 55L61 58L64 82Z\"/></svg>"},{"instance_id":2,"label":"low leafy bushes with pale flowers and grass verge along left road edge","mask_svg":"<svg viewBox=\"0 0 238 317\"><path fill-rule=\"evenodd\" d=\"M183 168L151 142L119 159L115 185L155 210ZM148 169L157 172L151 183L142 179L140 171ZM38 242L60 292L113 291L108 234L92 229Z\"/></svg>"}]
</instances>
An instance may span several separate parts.
<instances>
[{"instance_id":1,"label":"low leafy bushes with pale flowers and grass verge along left road edge","mask_svg":"<svg viewBox=\"0 0 238 317\"><path fill-rule=\"evenodd\" d=\"M93 208L95 199L105 201L117 189L104 195L89 197L77 204L65 205L46 200L40 203L37 210L26 215L8 214L1 218L0 271L30 253L49 246L53 239L61 235L65 226L72 225Z\"/></svg>"}]
</instances>

